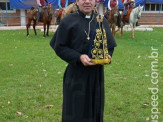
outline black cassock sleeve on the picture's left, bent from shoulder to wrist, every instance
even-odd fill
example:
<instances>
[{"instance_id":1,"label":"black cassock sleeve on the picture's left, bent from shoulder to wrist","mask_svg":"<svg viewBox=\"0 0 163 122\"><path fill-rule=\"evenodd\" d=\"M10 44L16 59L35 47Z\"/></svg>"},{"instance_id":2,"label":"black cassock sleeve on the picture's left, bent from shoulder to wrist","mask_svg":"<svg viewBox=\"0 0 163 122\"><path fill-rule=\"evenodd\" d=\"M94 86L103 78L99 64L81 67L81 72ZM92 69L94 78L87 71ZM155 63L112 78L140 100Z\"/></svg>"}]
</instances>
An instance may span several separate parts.
<instances>
[{"instance_id":1,"label":"black cassock sleeve on the picture's left, bent from shoulder to wrist","mask_svg":"<svg viewBox=\"0 0 163 122\"><path fill-rule=\"evenodd\" d=\"M80 53L73 48L70 48L71 40L71 26L62 21L55 32L50 45L55 50L56 54L70 64L77 64L80 62Z\"/></svg>"}]
</instances>

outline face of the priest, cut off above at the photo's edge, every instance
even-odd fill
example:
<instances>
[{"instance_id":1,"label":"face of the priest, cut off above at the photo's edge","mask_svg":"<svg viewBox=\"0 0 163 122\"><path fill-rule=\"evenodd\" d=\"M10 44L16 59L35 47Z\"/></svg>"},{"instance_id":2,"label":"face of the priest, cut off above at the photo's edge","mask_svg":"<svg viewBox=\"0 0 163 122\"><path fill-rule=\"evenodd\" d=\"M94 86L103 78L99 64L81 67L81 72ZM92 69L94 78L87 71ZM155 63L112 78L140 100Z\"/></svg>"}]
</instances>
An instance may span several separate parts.
<instances>
[{"instance_id":1,"label":"face of the priest, cut off above at the photo's edge","mask_svg":"<svg viewBox=\"0 0 163 122\"><path fill-rule=\"evenodd\" d=\"M90 14L95 6L95 0L77 0L77 5L79 6L79 10L84 14Z\"/></svg>"}]
</instances>

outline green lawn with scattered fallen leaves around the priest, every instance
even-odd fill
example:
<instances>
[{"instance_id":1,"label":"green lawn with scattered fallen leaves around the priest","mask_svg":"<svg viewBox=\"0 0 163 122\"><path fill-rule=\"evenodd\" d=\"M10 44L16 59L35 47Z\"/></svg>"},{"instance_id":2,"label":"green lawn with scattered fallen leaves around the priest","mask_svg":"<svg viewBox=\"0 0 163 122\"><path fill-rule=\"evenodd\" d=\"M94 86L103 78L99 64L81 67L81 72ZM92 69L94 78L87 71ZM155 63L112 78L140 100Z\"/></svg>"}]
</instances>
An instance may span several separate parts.
<instances>
[{"instance_id":1,"label":"green lawn with scattered fallen leaves around the priest","mask_svg":"<svg viewBox=\"0 0 163 122\"><path fill-rule=\"evenodd\" d=\"M0 31L0 122L61 122L67 64L49 46L53 33L25 35ZM135 39L125 32L116 42L112 64L105 66L105 122L145 122L151 116L163 121L163 29L135 32ZM158 57L149 58L151 53ZM154 72L151 62L157 59ZM159 74L157 84L152 73ZM159 91L154 95L148 88Z\"/></svg>"}]
</instances>

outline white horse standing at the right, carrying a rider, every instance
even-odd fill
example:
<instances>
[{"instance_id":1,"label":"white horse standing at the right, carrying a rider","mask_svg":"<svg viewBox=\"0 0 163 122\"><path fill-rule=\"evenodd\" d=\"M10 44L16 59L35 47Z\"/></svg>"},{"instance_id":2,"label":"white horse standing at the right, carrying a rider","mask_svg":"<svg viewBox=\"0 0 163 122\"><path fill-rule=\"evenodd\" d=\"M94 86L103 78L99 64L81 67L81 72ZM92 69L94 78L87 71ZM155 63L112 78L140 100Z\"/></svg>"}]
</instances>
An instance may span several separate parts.
<instances>
[{"instance_id":1,"label":"white horse standing at the right, carrying a rider","mask_svg":"<svg viewBox=\"0 0 163 122\"><path fill-rule=\"evenodd\" d=\"M135 30L135 27L136 27L136 23L138 22L138 20L140 19L141 17L141 13L143 11L143 7L144 6L138 6L134 9L132 9L131 13L130 13L130 16L129 16L129 21L128 21L128 24L130 25L131 27L131 38L135 38L135 35L134 35L134 30ZM126 20L125 20L126 21ZM121 28L121 35L123 34L123 26Z\"/></svg>"}]
</instances>

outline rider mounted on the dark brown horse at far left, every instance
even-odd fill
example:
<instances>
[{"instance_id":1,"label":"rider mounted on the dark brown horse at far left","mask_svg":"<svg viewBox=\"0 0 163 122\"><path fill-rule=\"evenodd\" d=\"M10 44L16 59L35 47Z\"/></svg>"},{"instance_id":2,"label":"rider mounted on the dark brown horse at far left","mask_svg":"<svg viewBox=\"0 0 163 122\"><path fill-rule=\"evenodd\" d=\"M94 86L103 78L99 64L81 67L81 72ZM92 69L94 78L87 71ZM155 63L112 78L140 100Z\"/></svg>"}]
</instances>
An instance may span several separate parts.
<instances>
[{"instance_id":1,"label":"rider mounted on the dark brown horse at far left","mask_svg":"<svg viewBox=\"0 0 163 122\"><path fill-rule=\"evenodd\" d=\"M46 4L49 4L47 0L37 0L37 4L39 5L38 16L37 16L37 23L40 20L41 8L45 6L44 2L46 2Z\"/></svg>"}]
</instances>

